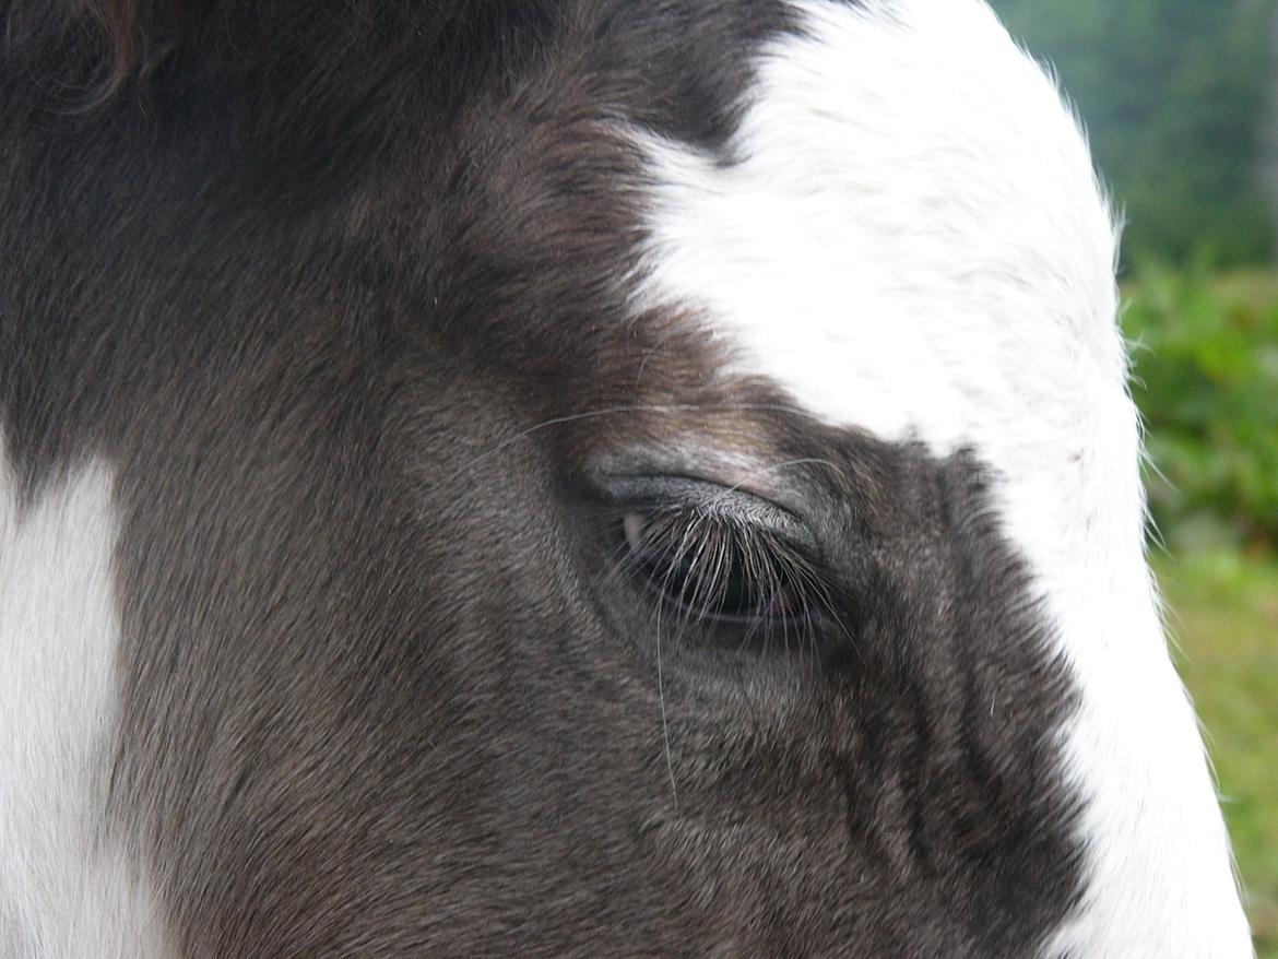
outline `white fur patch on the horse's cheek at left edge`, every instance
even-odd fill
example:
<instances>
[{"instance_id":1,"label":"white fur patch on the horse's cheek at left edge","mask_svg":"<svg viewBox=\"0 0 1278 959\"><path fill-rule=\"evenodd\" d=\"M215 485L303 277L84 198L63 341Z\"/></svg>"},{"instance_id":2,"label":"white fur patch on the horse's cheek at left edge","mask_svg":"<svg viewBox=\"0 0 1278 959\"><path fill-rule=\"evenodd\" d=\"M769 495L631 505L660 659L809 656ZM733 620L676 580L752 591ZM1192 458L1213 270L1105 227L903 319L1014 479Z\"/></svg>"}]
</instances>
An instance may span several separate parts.
<instances>
[{"instance_id":1,"label":"white fur patch on the horse's cheek at left edge","mask_svg":"<svg viewBox=\"0 0 1278 959\"><path fill-rule=\"evenodd\" d=\"M0 955L169 955L105 820L119 621L111 473L19 508L0 437Z\"/></svg>"}]
</instances>

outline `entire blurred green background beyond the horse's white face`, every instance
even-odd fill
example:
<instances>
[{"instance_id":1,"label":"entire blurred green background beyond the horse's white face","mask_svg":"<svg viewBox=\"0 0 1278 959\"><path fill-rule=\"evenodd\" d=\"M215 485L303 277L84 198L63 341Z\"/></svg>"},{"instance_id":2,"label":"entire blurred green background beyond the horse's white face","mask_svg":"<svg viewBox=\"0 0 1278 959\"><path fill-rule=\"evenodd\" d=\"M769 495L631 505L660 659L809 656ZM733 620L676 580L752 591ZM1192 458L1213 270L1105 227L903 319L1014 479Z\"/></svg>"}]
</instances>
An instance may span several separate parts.
<instances>
[{"instance_id":1,"label":"entire blurred green background beyond the horse's white face","mask_svg":"<svg viewBox=\"0 0 1278 959\"><path fill-rule=\"evenodd\" d=\"M1278 0L992 5L1059 75L1126 219L1154 568L1278 959Z\"/></svg>"}]
</instances>

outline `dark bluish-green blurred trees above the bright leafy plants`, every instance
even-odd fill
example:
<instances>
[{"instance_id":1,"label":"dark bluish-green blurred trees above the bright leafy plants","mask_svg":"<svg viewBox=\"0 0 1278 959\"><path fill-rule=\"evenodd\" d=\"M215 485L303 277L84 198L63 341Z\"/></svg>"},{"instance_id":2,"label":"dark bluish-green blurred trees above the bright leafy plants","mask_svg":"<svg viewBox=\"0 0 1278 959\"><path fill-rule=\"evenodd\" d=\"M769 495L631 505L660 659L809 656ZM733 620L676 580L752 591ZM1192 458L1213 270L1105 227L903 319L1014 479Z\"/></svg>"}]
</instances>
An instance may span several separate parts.
<instances>
[{"instance_id":1,"label":"dark bluish-green blurred trees above the bright leafy plants","mask_svg":"<svg viewBox=\"0 0 1278 959\"><path fill-rule=\"evenodd\" d=\"M993 0L1077 105L1126 254L1265 261L1273 205L1259 157L1274 0Z\"/></svg>"}]
</instances>

